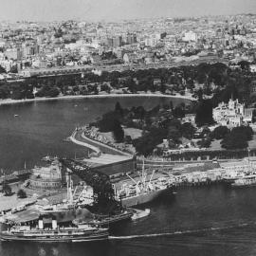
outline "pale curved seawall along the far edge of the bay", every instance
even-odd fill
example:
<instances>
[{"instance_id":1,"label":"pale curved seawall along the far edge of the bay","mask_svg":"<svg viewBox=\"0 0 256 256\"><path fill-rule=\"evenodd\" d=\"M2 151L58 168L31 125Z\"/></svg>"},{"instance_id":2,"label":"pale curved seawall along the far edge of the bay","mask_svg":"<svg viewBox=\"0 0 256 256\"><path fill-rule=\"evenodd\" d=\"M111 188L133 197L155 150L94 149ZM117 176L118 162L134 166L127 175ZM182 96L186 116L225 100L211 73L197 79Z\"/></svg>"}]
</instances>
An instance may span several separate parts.
<instances>
[{"instance_id":1,"label":"pale curved seawall along the far edge of the bay","mask_svg":"<svg viewBox=\"0 0 256 256\"><path fill-rule=\"evenodd\" d=\"M187 101L197 101L196 99L189 96L182 95L166 95L166 94L154 94L154 93L141 93L141 94L100 94L100 95L75 95L75 96L60 96L56 98L35 98L25 100L0 100L1 105L37 102L37 101L59 101L59 100L79 100L79 99L97 99L97 98L131 98L131 97L155 97L155 98L175 98L183 99Z\"/></svg>"}]
</instances>

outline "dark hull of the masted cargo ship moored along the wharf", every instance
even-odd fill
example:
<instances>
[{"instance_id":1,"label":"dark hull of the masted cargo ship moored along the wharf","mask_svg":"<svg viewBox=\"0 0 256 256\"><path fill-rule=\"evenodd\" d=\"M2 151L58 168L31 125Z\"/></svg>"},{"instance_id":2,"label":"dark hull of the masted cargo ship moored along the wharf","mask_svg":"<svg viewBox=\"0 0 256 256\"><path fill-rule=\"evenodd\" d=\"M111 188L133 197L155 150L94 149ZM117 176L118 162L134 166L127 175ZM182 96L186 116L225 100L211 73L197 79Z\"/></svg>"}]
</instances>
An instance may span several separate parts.
<instances>
[{"instance_id":1,"label":"dark hull of the masted cargo ship moored along the wharf","mask_svg":"<svg viewBox=\"0 0 256 256\"><path fill-rule=\"evenodd\" d=\"M123 207L135 207L138 205L147 204L149 202L154 201L160 195L165 194L167 192L171 192L171 188L167 188L164 190L157 190L153 192L145 192L140 193L135 196L124 197L121 199L121 204Z\"/></svg>"}]
</instances>

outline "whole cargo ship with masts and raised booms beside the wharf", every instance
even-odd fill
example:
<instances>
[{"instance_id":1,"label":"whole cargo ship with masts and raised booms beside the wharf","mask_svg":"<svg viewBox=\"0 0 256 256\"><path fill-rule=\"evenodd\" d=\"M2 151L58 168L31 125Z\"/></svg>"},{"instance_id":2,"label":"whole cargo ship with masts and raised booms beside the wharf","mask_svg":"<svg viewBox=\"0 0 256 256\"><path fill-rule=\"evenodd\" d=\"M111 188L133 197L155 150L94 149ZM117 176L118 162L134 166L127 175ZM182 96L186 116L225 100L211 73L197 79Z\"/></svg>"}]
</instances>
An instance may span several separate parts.
<instances>
[{"instance_id":1,"label":"whole cargo ship with masts and raised booms beside the wharf","mask_svg":"<svg viewBox=\"0 0 256 256\"><path fill-rule=\"evenodd\" d=\"M151 174L150 180L146 180L147 174L144 169L144 163L140 180L136 181L129 174L126 174L133 181L133 184L128 185L127 183L123 183L119 191L115 188L115 185L113 185L116 200L119 200L123 207L129 208L149 203L158 198L161 194L170 192L171 186L168 179L159 177L155 181L152 181L154 174L155 171Z\"/></svg>"}]
</instances>

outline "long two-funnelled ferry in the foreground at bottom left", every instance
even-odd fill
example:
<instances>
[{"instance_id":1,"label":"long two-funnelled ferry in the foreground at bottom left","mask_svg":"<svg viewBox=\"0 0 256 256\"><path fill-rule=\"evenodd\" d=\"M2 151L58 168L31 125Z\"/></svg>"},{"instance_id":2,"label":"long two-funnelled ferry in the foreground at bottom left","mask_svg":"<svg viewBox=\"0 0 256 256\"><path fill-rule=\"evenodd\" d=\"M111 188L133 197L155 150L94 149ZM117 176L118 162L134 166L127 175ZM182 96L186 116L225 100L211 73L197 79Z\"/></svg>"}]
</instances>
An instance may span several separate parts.
<instances>
[{"instance_id":1,"label":"long two-funnelled ferry in the foreground at bottom left","mask_svg":"<svg viewBox=\"0 0 256 256\"><path fill-rule=\"evenodd\" d=\"M52 220L52 227L45 228L43 220L38 226L12 226L0 232L1 241L22 242L93 242L107 240L108 229L90 225L59 227L56 220Z\"/></svg>"}]
</instances>

